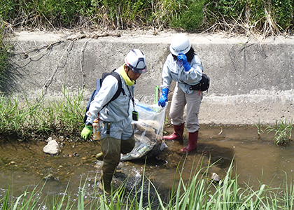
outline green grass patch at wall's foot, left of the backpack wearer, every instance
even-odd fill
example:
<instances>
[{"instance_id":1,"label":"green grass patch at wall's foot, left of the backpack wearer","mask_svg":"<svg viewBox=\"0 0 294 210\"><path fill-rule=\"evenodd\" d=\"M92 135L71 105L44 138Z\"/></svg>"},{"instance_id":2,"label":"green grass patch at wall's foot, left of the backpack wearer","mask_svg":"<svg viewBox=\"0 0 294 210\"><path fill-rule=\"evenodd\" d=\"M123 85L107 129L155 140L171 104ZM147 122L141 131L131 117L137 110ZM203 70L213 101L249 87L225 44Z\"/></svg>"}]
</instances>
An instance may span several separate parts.
<instances>
[{"instance_id":1,"label":"green grass patch at wall's foot, left of the backpack wearer","mask_svg":"<svg viewBox=\"0 0 294 210\"><path fill-rule=\"evenodd\" d=\"M62 87L60 99L20 99L0 95L0 135L18 139L46 137L47 134L80 134L83 128L83 91L70 94ZM40 136L41 134L41 136Z\"/></svg>"}]
</instances>

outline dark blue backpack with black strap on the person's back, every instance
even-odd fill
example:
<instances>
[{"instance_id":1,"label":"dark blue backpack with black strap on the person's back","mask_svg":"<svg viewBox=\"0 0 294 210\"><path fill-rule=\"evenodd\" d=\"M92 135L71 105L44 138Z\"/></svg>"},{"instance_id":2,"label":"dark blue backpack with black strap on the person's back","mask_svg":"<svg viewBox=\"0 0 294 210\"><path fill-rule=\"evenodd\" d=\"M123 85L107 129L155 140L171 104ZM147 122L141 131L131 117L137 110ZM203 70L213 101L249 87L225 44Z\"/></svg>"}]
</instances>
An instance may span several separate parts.
<instances>
[{"instance_id":1,"label":"dark blue backpack with black strap on the person's back","mask_svg":"<svg viewBox=\"0 0 294 210\"><path fill-rule=\"evenodd\" d=\"M114 76L118 80L118 90L116 91L116 94L113 95L113 97L111 98L111 100L109 102L107 102L107 104L105 104L102 107L102 109L104 109L104 107L107 106L110 102L114 101L120 95L120 92L123 92L125 94L125 90L123 90L123 87L122 87L122 80L120 79L120 75L118 73L114 72L115 70L116 69L114 69L111 72L104 72L104 73L102 73L102 78L97 79L97 81L96 81L96 90L93 90L93 92L92 92L89 100L87 101L87 106L86 106L86 111L85 111L85 116L84 116L84 123L87 120L86 113L87 113L87 111L89 111L90 104L94 100L94 97L99 92L100 87L102 85L102 82L103 82L104 78L106 78L106 76L111 75L111 76Z\"/></svg>"}]
</instances>

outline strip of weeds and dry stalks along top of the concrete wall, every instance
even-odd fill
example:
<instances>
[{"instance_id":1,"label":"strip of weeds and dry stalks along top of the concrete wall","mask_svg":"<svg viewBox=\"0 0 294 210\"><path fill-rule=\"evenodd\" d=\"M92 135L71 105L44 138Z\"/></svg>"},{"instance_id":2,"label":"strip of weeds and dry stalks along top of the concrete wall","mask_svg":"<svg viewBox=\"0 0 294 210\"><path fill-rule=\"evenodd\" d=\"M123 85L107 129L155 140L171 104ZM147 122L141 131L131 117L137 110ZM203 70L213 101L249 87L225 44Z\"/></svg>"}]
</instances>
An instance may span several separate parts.
<instances>
[{"instance_id":1,"label":"strip of weeds and dry stalks along top of the concrete wall","mask_svg":"<svg viewBox=\"0 0 294 210\"><path fill-rule=\"evenodd\" d=\"M0 18L15 29L181 29L265 36L293 33L294 0L6 0Z\"/></svg>"}]
</instances>

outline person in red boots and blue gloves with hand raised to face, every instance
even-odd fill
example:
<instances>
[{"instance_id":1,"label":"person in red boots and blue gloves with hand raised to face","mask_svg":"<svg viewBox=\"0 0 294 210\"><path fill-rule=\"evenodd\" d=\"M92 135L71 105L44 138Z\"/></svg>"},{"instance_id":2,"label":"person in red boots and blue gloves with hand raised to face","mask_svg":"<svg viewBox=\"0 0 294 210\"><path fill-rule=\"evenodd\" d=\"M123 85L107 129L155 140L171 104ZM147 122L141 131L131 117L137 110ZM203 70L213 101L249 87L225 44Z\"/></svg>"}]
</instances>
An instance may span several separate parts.
<instances>
[{"instance_id":1,"label":"person in red boots and blue gloves with hand raised to face","mask_svg":"<svg viewBox=\"0 0 294 210\"><path fill-rule=\"evenodd\" d=\"M197 85L202 79L203 66L200 58L195 54L191 47L188 37L178 34L172 39L169 46L170 54L167 56L162 69L162 96L158 105L166 105L167 95L172 80L176 81L172 104L169 111L171 123L174 125L174 133L164 136L165 140L183 139L185 120L183 118L184 107L187 105L186 129L189 132L189 144L181 149L182 153L193 151L197 148L198 114L203 98L202 91L190 90L191 85Z\"/></svg>"}]
</instances>

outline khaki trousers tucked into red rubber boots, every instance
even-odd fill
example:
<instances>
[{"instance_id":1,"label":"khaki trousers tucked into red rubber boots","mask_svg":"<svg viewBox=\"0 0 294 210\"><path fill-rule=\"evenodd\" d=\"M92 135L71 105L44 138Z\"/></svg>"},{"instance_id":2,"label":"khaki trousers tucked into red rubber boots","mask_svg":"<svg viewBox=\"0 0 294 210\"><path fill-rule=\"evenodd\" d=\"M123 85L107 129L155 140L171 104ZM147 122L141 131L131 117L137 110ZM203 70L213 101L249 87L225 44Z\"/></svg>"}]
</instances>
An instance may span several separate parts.
<instances>
[{"instance_id":1,"label":"khaki trousers tucked into red rubber boots","mask_svg":"<svg viewBox=\"0 0 294 210\"><path fill-rule=\"evenodd\" d=\"M194 90L193 93L188 94L183 92L178 83L176 83L169 111L172 125L182 125L185 123L183 113L187 104L186 129L190 133L197 132L200 129L198 115L202 98L202 91Z\"/></svg>"}]
</instances>

